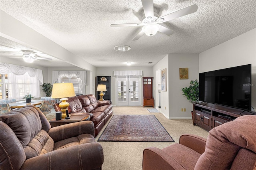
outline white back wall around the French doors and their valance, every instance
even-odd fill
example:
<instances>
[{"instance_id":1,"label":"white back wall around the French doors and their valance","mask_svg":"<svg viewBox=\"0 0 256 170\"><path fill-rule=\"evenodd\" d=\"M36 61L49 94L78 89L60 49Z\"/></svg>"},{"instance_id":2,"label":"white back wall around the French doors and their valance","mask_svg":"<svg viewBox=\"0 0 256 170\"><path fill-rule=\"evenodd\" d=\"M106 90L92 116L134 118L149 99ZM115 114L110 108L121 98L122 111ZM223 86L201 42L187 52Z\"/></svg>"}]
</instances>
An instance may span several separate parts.
<instances>
[{"instance_id":1,"label":"white back wall around the French doors and their valance","mask_svg":"<svg viewBox=\"0 0 256 170\"><path fill-rule=\"evenodd\" d=\"M111 99L114 106L116 106L116 77L114 71L117 70L142 70L143 77L153 77L152 67L97 67L95 76L111 76Z\"/></svg>"}]
</instances>

